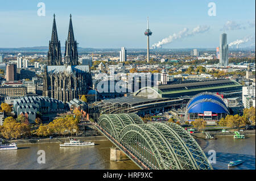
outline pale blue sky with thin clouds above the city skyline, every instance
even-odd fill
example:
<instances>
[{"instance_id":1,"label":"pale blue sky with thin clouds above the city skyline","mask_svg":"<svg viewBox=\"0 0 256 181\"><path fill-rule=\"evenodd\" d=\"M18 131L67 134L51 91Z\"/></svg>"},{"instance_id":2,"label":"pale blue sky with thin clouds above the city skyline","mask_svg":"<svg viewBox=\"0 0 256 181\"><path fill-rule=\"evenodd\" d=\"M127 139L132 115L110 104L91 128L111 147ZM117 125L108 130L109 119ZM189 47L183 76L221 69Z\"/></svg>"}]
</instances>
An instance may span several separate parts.
<instances>
[{"instance_id":1,"label":"pale blue sky with thin clouds above the city skyline","mask_svg":"<svg viewBox=\"0 0 256 181\"><path fill-rule=\"evenodd\" d=\"M40 2L45 16L38 15ZM216 5L215 16L208 14L210 2ZM69 14L82 48L146 48L147 16L150 46L169 37L163 48L215 48L223 32L228 43L255 45L254 0L0 0L0 48L48 46L53 14L61 47L68 36ZM192 33L196 27L207 28ZM185 34L179 33L183 30Z\"/></svg>"}]
</instances>

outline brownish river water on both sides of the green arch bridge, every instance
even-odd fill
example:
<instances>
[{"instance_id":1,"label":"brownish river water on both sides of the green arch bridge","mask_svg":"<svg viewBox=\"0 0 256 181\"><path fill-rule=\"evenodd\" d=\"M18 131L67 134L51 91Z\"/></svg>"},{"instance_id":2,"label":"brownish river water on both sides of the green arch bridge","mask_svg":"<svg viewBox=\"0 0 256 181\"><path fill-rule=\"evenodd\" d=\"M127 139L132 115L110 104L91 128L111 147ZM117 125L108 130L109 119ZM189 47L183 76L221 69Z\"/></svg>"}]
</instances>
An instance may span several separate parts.
<instances>
[{"instance_id":1,"label":"brownish river water on both sides of the green arch bridge","mask_svg":"<svg viewBox=\"0 0 256 181\"><path fill-rule=\"evenodd\" d=\"M243 140L232 136L213 140L198 138L197 142L208 157L216 151L214 169L228 169L228 162L244 162L232 169L255 169L255 135ZM59 144L18 145L18 150L0 151L0 169L139 169L132 161L110 161L110 141L96 141L94 146L60 148ZM46 153L46 163L38 163L38 150Z\"/></svg>"}]
</instances>

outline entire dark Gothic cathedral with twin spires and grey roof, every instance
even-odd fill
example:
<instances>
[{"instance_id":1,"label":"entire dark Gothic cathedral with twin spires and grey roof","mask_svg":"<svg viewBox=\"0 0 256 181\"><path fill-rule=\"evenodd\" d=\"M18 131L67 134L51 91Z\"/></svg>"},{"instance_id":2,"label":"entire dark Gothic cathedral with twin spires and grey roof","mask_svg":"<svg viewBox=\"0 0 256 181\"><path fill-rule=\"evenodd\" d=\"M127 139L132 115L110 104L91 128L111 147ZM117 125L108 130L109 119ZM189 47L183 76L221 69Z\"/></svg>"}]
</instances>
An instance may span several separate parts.
<instances>
[{"instance_id":1,"label":"entire dark Gothic cathedral with twin spires and grey roof","mask_svg":"<svg viewBox=\"0 0 256 181\"><path fill-rule=\"evenodd\" d=\"M44 68L43 95L69 102L85 95L92 87L89 65L79 65L77 42L70 15L68 39L65 41L64 63L61 59L60 41L53 15L52 36L49 41L47 65Z\"/></svg>"}]
</instances>

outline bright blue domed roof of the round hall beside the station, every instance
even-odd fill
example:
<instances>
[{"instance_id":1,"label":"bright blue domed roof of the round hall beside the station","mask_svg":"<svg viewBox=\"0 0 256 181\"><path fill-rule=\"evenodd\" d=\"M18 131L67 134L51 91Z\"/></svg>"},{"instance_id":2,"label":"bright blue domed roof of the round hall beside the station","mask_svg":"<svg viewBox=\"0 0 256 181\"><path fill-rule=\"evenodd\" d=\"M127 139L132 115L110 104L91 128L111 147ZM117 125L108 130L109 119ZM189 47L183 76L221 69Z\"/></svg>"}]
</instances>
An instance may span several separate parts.
<instances>
[{"instance_id":1,"label":"bright blue domed roof of the round hall beside the station","mask_svg":"<svg viewBox=\"0 0 256 181\"><path fill-rule=\"evenodd\" d=\"M224 100L210 92L195 95L187 105L188 113L229 113Z\"/></svg>"}]
</instances>

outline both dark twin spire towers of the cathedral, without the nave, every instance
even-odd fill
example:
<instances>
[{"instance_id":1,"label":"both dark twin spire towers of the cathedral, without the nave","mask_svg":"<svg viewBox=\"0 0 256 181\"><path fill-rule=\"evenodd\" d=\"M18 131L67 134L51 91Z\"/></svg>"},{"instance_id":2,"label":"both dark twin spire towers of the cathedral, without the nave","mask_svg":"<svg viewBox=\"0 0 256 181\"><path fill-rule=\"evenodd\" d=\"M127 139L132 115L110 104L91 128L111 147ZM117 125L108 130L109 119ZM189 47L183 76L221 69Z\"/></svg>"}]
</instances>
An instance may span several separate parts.
<instances>
[{"instance_id":1,"label":"both dark twin spire towers of the cathedral, without the nave","mask_svg":"<svg viewBox=\"0 0 256 181\"><path fill-rule=\"evenodd\" d=\"M77 43L75 41L72 19L70 15L68 39L65 41L64 65L78 65ZM61 47L57 36L55 14L53 15L52 37L49 41L47 65L63 65L61 61Z\"/></svg>"}]
</instances>

